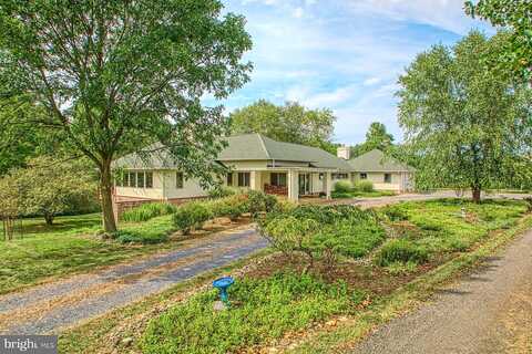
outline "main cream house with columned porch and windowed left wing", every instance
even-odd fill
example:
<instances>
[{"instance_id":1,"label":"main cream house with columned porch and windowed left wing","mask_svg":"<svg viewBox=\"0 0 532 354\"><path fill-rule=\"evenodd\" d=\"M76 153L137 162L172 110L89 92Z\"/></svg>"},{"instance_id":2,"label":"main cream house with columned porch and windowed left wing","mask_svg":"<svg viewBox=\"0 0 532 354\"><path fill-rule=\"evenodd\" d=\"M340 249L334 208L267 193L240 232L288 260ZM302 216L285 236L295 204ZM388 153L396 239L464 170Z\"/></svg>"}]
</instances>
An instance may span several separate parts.
<instances>
[{"instance_id":1,"label":"main cream house with columned porch and windowed left wing","mask_svg":"<svg viewBox=\"0 0 532 354\"><path fill-rule=\"evenodd\" d=\"M317 195L330 198L337 180L351 178L347 160L316 147L276 142L260 134L236 135L226 140L228 146L216 159L229 169L225 186L298 200ZM116 201L182 202L207 195L198 180L187 179L164 154L154 154L147 160L131 154L115 160L113 167L123 170L114 189Z\"/></svg>"}]
</instances>

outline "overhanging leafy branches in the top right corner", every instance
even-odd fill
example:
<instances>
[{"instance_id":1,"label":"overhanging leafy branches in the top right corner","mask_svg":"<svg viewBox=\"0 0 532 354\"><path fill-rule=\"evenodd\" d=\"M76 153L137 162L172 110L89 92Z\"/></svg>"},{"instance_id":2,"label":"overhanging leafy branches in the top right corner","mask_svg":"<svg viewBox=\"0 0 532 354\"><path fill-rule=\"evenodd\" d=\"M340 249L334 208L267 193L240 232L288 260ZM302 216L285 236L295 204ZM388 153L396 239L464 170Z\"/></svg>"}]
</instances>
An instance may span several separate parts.
<instances>
[{"instance_id":1,"label":"overhanging leafy branches in the top right corner","mask_svg":"<svg viewBox=\"0 0 532 354\"><path fill-rule=\"evenodd\" d=\"M532 1L523 0L480 0L466 1L468 14L480 17L493 25L511 30L510 40L504 45L500 65L509 65L514 73L528 81L532 80Z\"/></svg>"}]
</instances>

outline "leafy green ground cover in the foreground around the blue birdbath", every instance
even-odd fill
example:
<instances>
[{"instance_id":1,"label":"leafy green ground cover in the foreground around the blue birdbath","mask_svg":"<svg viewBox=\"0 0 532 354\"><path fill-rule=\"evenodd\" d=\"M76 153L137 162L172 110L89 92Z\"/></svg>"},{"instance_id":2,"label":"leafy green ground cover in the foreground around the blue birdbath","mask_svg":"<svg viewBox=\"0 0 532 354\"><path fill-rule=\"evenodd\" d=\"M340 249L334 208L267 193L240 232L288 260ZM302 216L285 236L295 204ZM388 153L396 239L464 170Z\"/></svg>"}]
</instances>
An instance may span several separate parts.
<instances>
[{"instance_id":1,"label":"leafy green ground cover in the foreground around the blue birdbath","mask_svg":"<svg viewBox=\"0 0 532 354\"><path fill-rule=\"evenodd\" d=\"M154 319L141 339L143 353L227 353L348 312L364 299L345 284L290 273L239 280L229 311L213 311L216 298L214 290L200 293Z\"/></svg>"}]
</instances>

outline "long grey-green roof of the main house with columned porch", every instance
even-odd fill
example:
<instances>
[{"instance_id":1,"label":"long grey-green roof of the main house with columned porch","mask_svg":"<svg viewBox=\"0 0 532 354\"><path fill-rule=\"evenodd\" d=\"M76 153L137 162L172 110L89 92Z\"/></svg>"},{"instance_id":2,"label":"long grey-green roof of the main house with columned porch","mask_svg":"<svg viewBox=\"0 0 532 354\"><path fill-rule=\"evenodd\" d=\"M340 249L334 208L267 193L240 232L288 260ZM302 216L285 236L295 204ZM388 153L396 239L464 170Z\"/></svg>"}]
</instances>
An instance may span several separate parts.
<instances>
[{"instance_id":1,"label":"long grey-green roof of the main house with columned porch","mask_svg":"<svg viewBox=\"0 0 532 354\"><path fill-rule=\"evenodd\" d=\"M226 138L228 145L218 155L218 162L275 160L308 164L317 168L351 170L349 164L320 148L283 143L260 134L242 134ZM116 159L114 167L127 168L176 168L173 158L164 149L153 145L145 149L150 154L130 154Z\"/></svg>"}]
</instances>

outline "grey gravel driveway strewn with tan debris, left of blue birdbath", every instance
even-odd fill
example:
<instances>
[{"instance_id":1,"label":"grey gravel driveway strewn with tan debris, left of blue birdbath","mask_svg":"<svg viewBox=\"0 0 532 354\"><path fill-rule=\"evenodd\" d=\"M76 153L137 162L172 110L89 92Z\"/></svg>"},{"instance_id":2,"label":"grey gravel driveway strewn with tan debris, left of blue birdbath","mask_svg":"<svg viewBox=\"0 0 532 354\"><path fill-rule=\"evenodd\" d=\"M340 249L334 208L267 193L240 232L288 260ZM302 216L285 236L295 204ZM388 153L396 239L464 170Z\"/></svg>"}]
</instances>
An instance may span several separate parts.
<instances>
[{"instance_id":1,"label":"grey gravel driveway strewn with tan debris, left of blue birdbath","mask_svg":"<svg viewBox=\"0 0 532 354\"><path fill-rule=\"evenodd\" d=\"M0 296L0 333L58 333L61 327L161 292L266 246L247 226L191 240L177 250L137 262L7 294Z\"/></svg>"}]
</instances>

